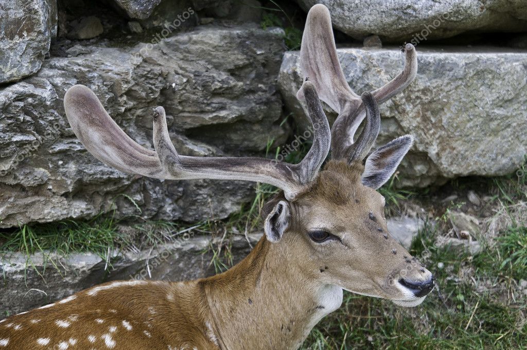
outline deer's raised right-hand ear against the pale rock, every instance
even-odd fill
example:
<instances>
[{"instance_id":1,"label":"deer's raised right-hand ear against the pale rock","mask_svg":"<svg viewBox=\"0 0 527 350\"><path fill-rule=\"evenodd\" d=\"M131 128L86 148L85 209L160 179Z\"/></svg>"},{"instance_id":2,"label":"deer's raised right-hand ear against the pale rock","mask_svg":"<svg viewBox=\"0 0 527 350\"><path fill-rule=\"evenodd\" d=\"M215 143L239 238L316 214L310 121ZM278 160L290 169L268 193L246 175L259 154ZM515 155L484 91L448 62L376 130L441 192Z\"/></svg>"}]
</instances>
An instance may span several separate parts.
<instances>
[{"instance_id":1,"label":"deer's raised right-hand ear against the pale rock","mask_svg":"<svg viewBox=\"0 0 527 350\"><path fill-rule=\"evenodd\" d=\"M414 138L412 135L404 135L384 146L376 149L366 159L362 183L374 189L378 189L388 181L397 169L406 152L412 147Z\"/></svg>"}]
</instances>

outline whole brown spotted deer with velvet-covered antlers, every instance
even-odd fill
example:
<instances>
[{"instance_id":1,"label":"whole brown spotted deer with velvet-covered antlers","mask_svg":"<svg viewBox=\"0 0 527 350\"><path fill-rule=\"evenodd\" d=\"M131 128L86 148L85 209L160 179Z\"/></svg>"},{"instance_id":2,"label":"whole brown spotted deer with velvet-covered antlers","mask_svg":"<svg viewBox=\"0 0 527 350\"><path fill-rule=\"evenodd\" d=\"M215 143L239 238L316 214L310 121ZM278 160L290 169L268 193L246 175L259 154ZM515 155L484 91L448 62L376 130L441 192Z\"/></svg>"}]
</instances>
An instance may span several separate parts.
<instances>
[{"instance_id":1,"label":"whole brown spotted deer with velvet-covered antlers","mask_svg":"<svg viewBox=\"0 0 527 350\"><path fill-rule=\"evenodd\" d=\"M404 71L359 98L341 72L327 8L311 9L300 52L306 81L299 96L314 140L299 164L179 155L162 107L153 115L155 151L145 149L118 127L90 89L73 86L64 96L67 118L102 162L159 179L259 181L283 192L264 208L265 235L225 273L179 283L114 281L80 291L0 321L0 349L296 349L340 306L343 289L408 307L423 302L434 278L389 236L384 199L376 191L412 137L366 157L379 132L377 103L415 76L414 47L407 44L405 51ZM332 139L317 91L339 112ZM364 115L364 129L353 142ZM332 159L319 171L330 145Z\"/></svg>"}]
</instances>

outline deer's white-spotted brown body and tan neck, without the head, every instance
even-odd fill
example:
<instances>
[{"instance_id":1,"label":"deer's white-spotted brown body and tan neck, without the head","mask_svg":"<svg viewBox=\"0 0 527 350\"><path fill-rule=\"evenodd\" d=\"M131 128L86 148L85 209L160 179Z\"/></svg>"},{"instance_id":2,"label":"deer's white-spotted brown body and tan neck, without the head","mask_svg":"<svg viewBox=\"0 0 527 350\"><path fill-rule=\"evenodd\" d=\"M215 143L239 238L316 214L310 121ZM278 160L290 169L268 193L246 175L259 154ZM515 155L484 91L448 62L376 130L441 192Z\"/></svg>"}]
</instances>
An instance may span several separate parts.
<instances>
[{"instance_id":1,"label":"deer's white-spotted brown body and tan neck, without the head","mask_svg":"<svg viewBox=\"0 0 527 350\"><path fill-rule=\"evenodd\" d=\"M238 265L205 279L114 281L83 290L3 320L0 339L17 350L298 348L340 306L342 289L304 276L271 248L262 238ZM276 258L286 263L281 271Z\"/></svg>"}]
</instances>

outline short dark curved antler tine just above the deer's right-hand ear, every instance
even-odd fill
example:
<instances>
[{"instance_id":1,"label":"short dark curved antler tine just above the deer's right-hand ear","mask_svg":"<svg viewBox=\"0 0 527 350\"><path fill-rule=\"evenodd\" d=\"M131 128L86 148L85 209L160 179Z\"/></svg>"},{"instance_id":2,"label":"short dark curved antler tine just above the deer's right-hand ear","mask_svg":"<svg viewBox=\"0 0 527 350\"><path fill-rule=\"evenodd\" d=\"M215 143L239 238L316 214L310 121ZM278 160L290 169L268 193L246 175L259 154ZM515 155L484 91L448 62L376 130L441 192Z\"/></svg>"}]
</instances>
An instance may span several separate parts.
<instances>
[{"instance_id":1,"label":"short dark curved antler tine just above the deer's right-hand ear","mask_svg":"<svg viewBox=\"0 0 527 350\"><path fill-rule=\"evenodd\" d=\"M357 141L349 145L344 152L347 154L349 163L355 160L362 160L366 157L370 149L372 149L380 130L379 105L375 101L375 98L369 92L363 92L360 98L362 98L366 106L366 124L362 132L360 132Z\"/></svg>"}]
</instances>

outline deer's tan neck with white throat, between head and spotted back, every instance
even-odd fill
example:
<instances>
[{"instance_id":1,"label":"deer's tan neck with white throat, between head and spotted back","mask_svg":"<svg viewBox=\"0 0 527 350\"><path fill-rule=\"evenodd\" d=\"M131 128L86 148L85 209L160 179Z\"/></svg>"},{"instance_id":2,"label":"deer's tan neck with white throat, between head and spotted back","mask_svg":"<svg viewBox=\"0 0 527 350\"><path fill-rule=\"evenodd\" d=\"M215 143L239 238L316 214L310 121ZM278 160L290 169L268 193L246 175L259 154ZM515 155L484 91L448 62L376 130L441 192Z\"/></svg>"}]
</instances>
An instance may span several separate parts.
<instances>
[{"instance_id":1,"label":"deer's tan neck with white throat, between head and spotted back","mask_svg":"<svg viewBox=\"0 0 527 350\"><path fill-rule=\"evenodd\" d=\"M262 237L238 265L203 280L212 328L225 349L296 349L337 309L342 289L324 285Z\"/></svg>"}]
</instances>

